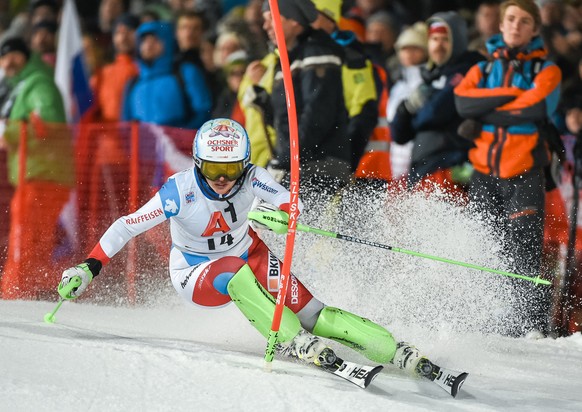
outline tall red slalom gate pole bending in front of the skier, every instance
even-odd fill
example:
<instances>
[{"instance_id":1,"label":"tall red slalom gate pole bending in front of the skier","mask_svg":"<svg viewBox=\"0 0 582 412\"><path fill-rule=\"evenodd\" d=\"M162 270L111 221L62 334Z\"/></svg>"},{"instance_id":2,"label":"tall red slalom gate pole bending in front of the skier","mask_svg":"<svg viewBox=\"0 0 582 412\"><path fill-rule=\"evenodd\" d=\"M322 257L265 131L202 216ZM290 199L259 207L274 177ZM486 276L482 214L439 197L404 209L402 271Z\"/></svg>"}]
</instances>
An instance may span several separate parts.
<instances>
[{"instance_id":1,"label":"tall red slalom gate pole bending in front of the skier","mask_svg":"<svg viewBox=\"0 0 582 412\"><path fill-rule=\"evenodd\" d=\"M285 43L283 26L281 25L281 15L279 14L279 4L277 0L269 0L271 15L273 16L273 25L275 28L275 37L277 47L279 48L279 58L281 70L283 71L283 84L285 85L285 95L287 98L287 113L289 118L289 141L291 143L291 192L289 208L289 225L287 230L287 239L285 242L285 256L283 258L283 268L281 270L281 281L279 282L279 292L273 314L271 331L267 340L267 349L265 350L265 367L271 368L271 362L275 355L275 346L281 326L283 308L285 307L285 297L289 289L289 279L291 275L291 261L293 259L293 248L295 246L295 229L297 227L297 217L299 215L299 133L297 127L297 111L295 107L295 91L293 90L293 79L291 78L291 68L289 66L289 55Z\"/></svg>"}]
</instances>

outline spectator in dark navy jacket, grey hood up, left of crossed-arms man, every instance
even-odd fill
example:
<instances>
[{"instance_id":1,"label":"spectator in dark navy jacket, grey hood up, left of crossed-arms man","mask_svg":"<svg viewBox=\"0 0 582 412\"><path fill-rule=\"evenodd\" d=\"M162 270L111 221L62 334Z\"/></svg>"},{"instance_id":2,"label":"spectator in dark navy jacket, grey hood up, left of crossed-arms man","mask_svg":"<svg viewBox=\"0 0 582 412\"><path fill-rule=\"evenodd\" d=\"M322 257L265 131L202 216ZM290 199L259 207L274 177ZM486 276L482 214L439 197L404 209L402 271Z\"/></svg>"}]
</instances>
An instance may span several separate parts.
<instances>
[{"instance_id":1,"label":"spectator in dark navy jacket, grey hood up, left of crossed-arms man","mask_svg":"<svg viewBox=\"0 0 582 412\"><path fill-rule=\"evenodd\" d=\"M454 109L453 89L469 68L482 60L467 51L467 26L456 12L437 13L427 21L428 63L422 84L396 109L390 124L392 139L414 139L408 185L422 180L455 189L453 167L464 165L469 144L457 135L462 119Z\"/></svg>"}]
</instances>

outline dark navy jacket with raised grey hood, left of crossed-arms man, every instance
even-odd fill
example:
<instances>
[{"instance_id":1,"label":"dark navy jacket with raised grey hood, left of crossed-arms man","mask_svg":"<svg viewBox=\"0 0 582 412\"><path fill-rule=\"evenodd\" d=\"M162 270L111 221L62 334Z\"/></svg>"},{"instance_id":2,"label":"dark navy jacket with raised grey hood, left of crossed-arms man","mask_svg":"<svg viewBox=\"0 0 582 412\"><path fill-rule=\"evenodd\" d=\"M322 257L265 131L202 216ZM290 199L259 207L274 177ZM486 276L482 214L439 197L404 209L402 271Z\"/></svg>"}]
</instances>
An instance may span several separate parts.
<instances>
[{"instance_id":1,"label":"dark navy jacket with raised grey hood, left of crossed-arms man","mask_svg":"<svg viewBox=\"0 0 582 412\"><path fill-rule=\"evenodd\" d=\"M410 113L402 102L390 123L392 139L404 144L414 139L411 154L409 184L438 169L463 164L467 160L469 143L457 135L462 118L455 110L454 88L465 73L483 60L476 52L467 51L467 30L462 18L454 12L437 13L431 21L447 25L453 45L451 57L442 66L429 61L422 69L427 100L416 113Z\"/></svg>"}]
</instances>

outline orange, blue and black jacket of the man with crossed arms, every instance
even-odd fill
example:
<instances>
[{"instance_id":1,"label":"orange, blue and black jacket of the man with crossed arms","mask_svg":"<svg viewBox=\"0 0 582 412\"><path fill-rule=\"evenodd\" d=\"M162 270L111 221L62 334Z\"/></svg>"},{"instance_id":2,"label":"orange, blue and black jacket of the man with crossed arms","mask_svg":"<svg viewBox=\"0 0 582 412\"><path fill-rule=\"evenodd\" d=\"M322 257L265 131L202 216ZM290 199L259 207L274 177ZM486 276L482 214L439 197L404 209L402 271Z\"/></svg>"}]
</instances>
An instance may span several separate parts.
<instances>
[{"instance_id":1,"label":"orange, blue and black jacket of the man with crossed arms","mask_svg":"<svg viewBox=\"0 0 582 412\"><path fill-rule=\"evenodd\" d=\"M471 68L455 88L455 104L461 116L483 123L469 152L475 170L506 179L548 164L550 153L537 124L557 108L561 72L543 60L540 37L509 50L496 35L487 49L494 60ZM537 75L535 65L541 65Z\"/></svg>"}]
</instances>

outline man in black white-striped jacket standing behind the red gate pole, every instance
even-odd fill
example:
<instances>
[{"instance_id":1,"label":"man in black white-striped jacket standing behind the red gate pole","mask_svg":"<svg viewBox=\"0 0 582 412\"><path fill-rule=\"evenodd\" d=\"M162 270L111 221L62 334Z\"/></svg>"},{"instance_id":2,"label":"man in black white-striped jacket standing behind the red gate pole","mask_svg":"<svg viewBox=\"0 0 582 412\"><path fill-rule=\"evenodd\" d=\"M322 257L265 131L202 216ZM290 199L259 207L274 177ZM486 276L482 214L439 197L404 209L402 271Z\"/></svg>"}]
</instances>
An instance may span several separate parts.
<instances>
[{"instance_id":1,"label":"man in black white-striped jacket standing behind the red gate pole","mask_svg":"<svg viewBox=\"0 0 582 412\"><path fill-rule=\"evenodd\" d=\"M280 0L289 61L297 66L293 85L299 128L299 148L304 188L320 193L334 192L351 176L351 148L346 133L347 112L343 98L341 47L325 32L313 30L317 18L312 3ZM310 6L310 9L306 7ZM274 41L274 33L269 30ZM302 63L302 64L299 64ZM271 96L277 135L274 175L283 176L290 168L289 122L286 93L280 69L275 73Z\"/></svg>"}]
</instances>

